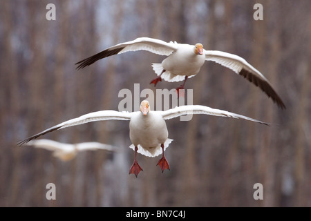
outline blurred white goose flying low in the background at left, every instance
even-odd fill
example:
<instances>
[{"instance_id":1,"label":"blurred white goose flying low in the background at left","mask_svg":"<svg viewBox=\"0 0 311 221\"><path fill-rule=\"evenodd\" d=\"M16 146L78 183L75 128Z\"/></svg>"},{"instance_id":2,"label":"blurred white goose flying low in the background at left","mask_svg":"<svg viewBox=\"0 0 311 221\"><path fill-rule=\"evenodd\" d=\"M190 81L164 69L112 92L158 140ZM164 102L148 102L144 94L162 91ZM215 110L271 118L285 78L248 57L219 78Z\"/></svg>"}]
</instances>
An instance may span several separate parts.
<instances>
[{"instance_id":1,"label":"blurred white goose flying low in the background at left","mask_svg":"<svg viewBox=\"0 0 311 221\"><path fill-rule=\"evenodd\" d=\"M98 142L83 142L78 144L64 144L56 142L54 140L39 139L31 140L27 143L28 146L34 146L37 148L45 148L48 151L53 151L53 155L58 157L62 161L73 160L79 151L95 151L106 150L116 151L117 149L108 144L102 144Z\"/></svg>"}]
</instances>

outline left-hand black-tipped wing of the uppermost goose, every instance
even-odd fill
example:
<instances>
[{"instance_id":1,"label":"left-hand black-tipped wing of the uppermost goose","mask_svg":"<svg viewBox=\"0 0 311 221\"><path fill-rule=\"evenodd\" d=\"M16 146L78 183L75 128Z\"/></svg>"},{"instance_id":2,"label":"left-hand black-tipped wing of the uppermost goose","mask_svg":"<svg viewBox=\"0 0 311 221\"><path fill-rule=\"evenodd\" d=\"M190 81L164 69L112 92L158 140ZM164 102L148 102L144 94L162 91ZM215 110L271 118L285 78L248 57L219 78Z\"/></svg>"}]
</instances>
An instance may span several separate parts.
<instances>
[{"instance_id":1,"label":"left-hand black-tipped wing of the uppermost goose","mask_svg":"<svg viewBox=\"0 0 311 221\"><path fill-rule=\"evenodd\" d=\"M95 61L99 59L103 59L105 57L109 57L111 55L120 55L124 52L135 51L135 50L148 50L158 55L171 55L171 52L177 50L178 44L174 44L173 42L165 42L159 39L151 39L149 37L139 37L133 41L127 41L124 43L117 44L110 48L106 48L101 52L83 59L82 61L77 62L79 66L77 66L77 70L85 68L93 64Z\"/></svg>"}]
</instances>

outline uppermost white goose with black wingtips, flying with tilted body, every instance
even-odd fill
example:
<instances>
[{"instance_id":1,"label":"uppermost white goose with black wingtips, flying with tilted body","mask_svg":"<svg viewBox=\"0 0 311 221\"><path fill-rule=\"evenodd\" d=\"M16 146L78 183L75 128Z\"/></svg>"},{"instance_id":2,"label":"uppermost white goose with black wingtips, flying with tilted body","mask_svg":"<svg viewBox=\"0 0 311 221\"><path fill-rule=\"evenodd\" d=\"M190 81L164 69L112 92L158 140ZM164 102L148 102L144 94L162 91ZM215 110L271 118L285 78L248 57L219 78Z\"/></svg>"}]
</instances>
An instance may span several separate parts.
<instances>
[{"instance_id":1,"label":"uppermost white goose with black wingtips, flying with tilted body","mask_svg":"<svg viewBox=\"0 0 311 221\"><path fill-rule=\"evenodd\" d=\"M232 69L238 75L248 79L250 82L261 88L263 92L271 97L274 102L280 107L285 108L285 104L274 91L270 82L256 68L248 64L245 59L237 55L232 55L227 52L218 50L205 50L202 44L189 45L178 44L175 42L165 42L159 39L149 37L140 37L133 41L127 41L117 44L110 48L106 48L101 52L77 62L77 69L84 68L93 64L99 59L109 57L111 55L120 55L124 52L135 50L148 50L158 55L168 56L161 64L153 64L153 70L158 75L150 84L158 84L159 81L182 81L184 83L176 88L177 91L184 88L189 77L194 77L200 71L201 66L205 61L215 61L227 68ZM179 93L178 93L179 94Z\"/></svg>"}]
</instances>

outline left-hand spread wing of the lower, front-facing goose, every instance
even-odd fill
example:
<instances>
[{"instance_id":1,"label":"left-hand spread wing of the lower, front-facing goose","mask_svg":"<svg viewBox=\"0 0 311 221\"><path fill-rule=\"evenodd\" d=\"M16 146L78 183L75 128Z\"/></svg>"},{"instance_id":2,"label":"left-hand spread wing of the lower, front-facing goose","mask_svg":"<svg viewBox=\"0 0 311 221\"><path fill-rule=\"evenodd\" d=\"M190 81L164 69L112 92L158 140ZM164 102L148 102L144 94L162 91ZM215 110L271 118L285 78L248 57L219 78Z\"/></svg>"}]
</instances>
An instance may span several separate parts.
<instances>
[{"instance_id":1,"label":"left-hand spread wing of the lower, front-facing goose","mask_svg":"<svg viewBox=\"0 0 311 221\"><path fill-rule=\"evenodd\" d=\"M21 146L29 142L30 140L40 137L41 135L45 135L46 133L50 133L52 131L56 131L61 128L66 128L68 126L75 126L79 124L86 124L88 122L96 122L96 121L102 121L102 120L108 120L108 119L130 120L132 114L133 112L129 113L129 112L119 112L119 111L97 111L93 113L88 113L86 115L82 115L74 119L69 119L66 122L62 122L60 124L52 126L51 128L48 128L45 131L42 131L40 133L37 133L36 135L26 138L25 140L22 140L21 142L18 143L18 145Z\"/></svg>"}]
</instances>

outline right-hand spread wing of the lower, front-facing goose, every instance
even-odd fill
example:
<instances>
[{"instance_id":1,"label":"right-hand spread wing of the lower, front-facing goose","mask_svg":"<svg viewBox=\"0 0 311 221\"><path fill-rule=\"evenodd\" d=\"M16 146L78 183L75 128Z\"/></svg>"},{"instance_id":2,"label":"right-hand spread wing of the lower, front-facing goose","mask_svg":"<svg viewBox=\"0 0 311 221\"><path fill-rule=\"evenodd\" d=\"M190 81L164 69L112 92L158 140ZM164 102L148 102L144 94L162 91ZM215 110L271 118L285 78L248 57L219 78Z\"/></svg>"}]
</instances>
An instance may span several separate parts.
<instances>
[{"instance_id":1,"label":"right-hand spread wing of the lower, front-facing goose","mask_svg":"<svg viewBox=\"0 0 311 221\"><path fill-rule=\"evenodd\" d=\"M182 115L187 114L202 114L202 115L214 115L219 117L234 117L234 118L241 118L247 119L252 122L257 122L259 124L269 125L268 123L261 122L257 119L253 119L250 117L245 117L243 115L238 115L236 113L231 113L229 111L222 111L219 109L210 108L208 106L201 106L201 105L185 105L185 106L178 106L176 108L169 109L167 111L157 111L163 117L163 119L171 119L174 117L180 117Z\"/></svg>"}]
</instances>

